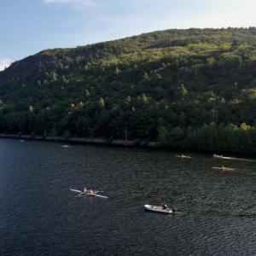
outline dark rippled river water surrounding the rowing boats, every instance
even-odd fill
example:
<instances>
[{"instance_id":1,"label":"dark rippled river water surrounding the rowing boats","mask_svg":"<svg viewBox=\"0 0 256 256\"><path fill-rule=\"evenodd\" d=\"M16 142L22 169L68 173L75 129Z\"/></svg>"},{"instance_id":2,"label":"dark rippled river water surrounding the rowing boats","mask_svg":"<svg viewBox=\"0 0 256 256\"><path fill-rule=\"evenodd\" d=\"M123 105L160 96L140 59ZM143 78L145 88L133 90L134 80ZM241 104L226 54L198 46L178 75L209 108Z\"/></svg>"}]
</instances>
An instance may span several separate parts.
<instances>
[{"instance_id":1,"label":"dark rippled river water surrounding the rowing boats","mask_svg":"<svg viewBox=\"0 0 256 256\"><path fill-rule=\"evenodd\" d=\"M0 140L1 255L256 254L256 163L61 146ZM68 190L83 186L109 199ZM183 213L143 211L160 201Z\"/></svg>"}]
</instances>

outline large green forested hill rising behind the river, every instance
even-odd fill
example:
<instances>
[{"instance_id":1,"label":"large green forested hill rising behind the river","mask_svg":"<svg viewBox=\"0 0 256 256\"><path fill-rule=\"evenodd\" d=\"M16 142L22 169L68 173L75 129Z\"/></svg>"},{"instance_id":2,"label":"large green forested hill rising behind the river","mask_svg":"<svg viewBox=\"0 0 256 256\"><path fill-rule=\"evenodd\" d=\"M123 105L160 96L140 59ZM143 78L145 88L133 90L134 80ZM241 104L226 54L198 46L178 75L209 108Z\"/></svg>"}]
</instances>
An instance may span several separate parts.
<instances>
[{"instance_id":1,"label":"large green forested hill rising behind the river","mask_svg":"<svg viewBox=\"0 0 256 256\"><path fill-rule=\"evenodd\" d=\"M0 132L256 154L256 28L47 49L0 73Z\"/></svg>"}]
</instances>

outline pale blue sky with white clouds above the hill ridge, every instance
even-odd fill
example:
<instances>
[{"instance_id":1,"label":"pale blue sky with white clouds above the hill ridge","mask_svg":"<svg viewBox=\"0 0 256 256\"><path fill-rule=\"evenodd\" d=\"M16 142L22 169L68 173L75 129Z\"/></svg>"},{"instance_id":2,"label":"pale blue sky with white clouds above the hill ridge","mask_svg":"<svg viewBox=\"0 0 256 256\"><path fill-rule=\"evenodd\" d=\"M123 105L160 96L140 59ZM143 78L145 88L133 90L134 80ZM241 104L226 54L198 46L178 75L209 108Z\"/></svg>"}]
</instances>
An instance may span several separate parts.
<instances>
[{"instance_id":1,"label":"pale blue sky with white clouds above the hill ridge","mask_svg":"<svg viewBox=\"0 0 256 256\"><path fill-rule=\"evenodd\" d=\"M256 26L256 0L0 0L0 70L49 48L189 27Z\"/></svg>"}]
</instances>

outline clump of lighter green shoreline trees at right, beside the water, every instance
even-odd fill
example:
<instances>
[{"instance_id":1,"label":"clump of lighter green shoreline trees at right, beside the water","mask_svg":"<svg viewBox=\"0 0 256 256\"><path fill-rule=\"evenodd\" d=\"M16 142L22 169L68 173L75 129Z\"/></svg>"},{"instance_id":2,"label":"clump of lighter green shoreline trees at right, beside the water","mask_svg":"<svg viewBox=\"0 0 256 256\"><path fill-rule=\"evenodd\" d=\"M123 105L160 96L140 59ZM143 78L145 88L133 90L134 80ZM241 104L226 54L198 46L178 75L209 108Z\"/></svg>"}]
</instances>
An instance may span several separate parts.
<instances>
[{"instance_id":1,"label":"clump of lighter green shoreline trees at right, beside the water","mask_svg":"<svg viewBox=\"0 0 256 256\"><path fill-rule=\"evenodd\" d=\"M205 124L197 129L160 126L158 141L172 148L256 154L256 129L250 125Z\"/></svg>"}]
</instances>

